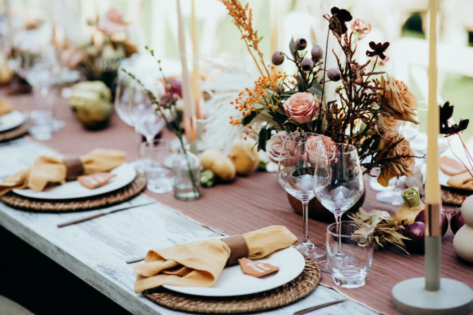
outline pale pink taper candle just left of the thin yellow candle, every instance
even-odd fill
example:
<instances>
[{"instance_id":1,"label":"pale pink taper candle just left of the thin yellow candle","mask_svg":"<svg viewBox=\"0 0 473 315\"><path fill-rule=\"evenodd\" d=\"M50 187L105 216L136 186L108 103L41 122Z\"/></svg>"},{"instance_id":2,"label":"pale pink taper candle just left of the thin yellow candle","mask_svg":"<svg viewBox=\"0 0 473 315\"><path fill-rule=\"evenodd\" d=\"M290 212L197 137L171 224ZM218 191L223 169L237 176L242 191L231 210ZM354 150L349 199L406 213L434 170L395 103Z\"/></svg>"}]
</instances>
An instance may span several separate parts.
<instances>
[{"instance_id":1,"label":"pale pink taper candle just left of the thin yellow candle","mask_svg":"<svg viewBox=\"0 0 473 315\"><path fill-rule=\"evenodd\" d=\"M186 37L184 36L181 0L176 0L176 5L178 8L178 37L182 64L182 97L184 99L184 117L193 117L195 115L195 110L192 101L191 80L189 76L189 70L187 69Z\"/></svg>"}]
</instances>

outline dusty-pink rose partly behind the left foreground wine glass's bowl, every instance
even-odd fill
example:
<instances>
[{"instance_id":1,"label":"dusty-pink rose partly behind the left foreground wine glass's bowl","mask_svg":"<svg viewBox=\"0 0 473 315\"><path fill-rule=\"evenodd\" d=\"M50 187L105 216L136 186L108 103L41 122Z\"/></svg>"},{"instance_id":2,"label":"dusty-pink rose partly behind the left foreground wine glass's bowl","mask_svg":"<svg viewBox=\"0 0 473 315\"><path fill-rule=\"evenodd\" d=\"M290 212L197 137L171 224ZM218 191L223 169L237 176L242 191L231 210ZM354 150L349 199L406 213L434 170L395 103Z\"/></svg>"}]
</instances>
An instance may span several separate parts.
<instances>
[{"instance_id":1,"label":"dusty-pink rose partly behind the left foreground wine glass's bowl","mask_svg":"<svg viewBox=\"0 0 473 315\"><path fill-rule=\"evenodd\" d=\"M281 160L283 166L292 166L299 161L299 156L302 152L297 139L294 138L294 135L290 136L293 141L286 141L286 144L283 148L284 139L287 138L287 132L280 131L276 135L273 135L270 140L266 143L267 152L269 159L278 163Z\"/></svg>"}]
</instances>

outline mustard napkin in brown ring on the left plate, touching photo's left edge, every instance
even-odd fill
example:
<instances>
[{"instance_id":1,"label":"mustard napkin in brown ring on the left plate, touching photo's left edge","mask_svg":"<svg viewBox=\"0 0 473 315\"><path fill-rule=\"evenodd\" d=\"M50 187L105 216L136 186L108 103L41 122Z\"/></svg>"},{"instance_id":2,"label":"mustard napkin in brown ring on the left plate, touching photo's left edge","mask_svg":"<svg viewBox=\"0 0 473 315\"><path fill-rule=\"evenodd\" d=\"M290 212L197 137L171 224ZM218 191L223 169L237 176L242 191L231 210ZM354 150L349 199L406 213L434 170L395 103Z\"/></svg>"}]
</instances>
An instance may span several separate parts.
<instances>
[{"instance_id":1,"label":"mustard napkin in brown ring on the left plate, touching photo's left edge","mask_svg":"<svg viewBox=\"0 0 473 315\"><path fill-rule=\"evenodd\" d=\"M68 161L76 163L74 165L70 164ZM40 192L47 183L64 184L66 179L74 179L69 175L71 174L70 171L74 168L77 170L77 167L80 171L76 172L76 176L82 173L92 174L96 172L107 172L125 161L125 152L107 149L92 150L75 160L58 159L57 157L40 155L36 157L31 167L5 178L2 183L0 183L0 196L14 188L31 188L36 192Z\"/></svg>"}]
</instances>

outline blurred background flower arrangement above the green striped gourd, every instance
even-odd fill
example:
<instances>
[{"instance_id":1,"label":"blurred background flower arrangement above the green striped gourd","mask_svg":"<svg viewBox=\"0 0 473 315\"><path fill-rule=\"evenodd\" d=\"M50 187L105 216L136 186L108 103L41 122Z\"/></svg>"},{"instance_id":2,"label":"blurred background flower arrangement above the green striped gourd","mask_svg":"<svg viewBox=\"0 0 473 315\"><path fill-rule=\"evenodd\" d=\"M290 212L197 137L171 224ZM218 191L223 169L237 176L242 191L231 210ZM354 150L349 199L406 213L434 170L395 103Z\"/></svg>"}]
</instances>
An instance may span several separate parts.
<instances>
[{"instance_id":1,"label":"blurred background flower arrangement above the green striped gourd","mask_svg":"<svg viewBox=\"0 0 473 315\"><path fill-rule=\"evenodd\" d=\"M69 69L80 69L87 80L103 81L112 88L122 58L138 52L127 36L128 24L116 9L110 9L103 18L88 21L94 28L90 42L70 46L61 55Z\"/></svg>"}]
</instances>

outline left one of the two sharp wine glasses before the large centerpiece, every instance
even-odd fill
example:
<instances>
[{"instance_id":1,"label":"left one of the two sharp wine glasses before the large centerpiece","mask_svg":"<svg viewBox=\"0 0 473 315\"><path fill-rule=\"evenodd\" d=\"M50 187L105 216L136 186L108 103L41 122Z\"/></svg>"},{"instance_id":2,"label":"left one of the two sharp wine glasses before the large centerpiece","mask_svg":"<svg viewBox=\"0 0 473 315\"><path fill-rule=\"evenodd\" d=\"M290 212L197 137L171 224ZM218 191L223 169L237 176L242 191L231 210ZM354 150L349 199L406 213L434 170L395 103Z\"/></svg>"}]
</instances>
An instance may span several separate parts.
<instances>
[{"instance_id":1,"label":"left one of the two sharp wine glasses before the large centerpiece","mask_svg":"<svg viewBox=\"0 0 473 315\"><path fill-rule=\"evenodd\" d=\"M314 133L292 133L284 138L278 161L278 182L284 190L302 202L304 237L295 247L314 259L326 252L309 239L308 203L314 198L313 175L316 161L309 152L323 150L321 136Z\"/></svg>"}]
</instances>

